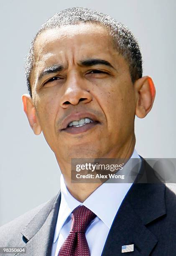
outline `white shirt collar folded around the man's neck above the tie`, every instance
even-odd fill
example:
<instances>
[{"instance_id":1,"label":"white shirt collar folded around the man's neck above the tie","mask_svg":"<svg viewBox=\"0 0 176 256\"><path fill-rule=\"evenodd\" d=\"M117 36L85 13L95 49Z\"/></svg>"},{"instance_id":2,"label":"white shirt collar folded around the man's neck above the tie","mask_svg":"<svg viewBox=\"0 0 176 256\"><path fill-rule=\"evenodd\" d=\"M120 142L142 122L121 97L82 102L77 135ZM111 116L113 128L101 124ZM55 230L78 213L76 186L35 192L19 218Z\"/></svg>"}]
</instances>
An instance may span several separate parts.
<instances>
[{"instance_id":1,"label":"white shirt collar folded around the man's neck above the tie","mask_svg":"<svg viewBox=\"0 0 176 256\"><path fill-rule=\"evenodd\" d=\"M140 158L137 151L134 149L130 158ZM132 169L125 164L126 170ZM124 166L124 167L125 167ZM71 212L79 205L84 205L94 212L99 219L110 229L119 209L122 200L130 189L132 183L103 183L99 186L87 199L82 203L75 199L69 192L64 182L64 177L61 174L61 204L59 207L56 230L54 234L54 243L59 237L60 230L66 219L71 215ZM98 202L98 203L97 203Z\"/></svg>"}]
</instances>

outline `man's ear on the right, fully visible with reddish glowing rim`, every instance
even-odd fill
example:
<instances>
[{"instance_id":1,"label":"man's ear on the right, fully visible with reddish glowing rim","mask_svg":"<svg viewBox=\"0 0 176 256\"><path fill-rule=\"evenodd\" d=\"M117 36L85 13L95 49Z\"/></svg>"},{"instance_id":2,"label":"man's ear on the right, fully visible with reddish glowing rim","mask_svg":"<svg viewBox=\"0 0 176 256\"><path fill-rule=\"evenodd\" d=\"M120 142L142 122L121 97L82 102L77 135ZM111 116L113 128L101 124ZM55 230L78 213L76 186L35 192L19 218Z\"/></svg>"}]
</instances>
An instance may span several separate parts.
<instances>
[{"instance_id":1,"label":"man's ear on the right, fully visible with reddish glowing rim","mask_svg":"<svg viewBox=\"0 0 176 256\"><path fill-rule=\"evenodd\" d=\"M144 118L150 112L155 99L155 86L153 80L148 77L142 77L135 81L134 84L136 95L135 114L138 118Z\"/></svg>"}]
</instances>

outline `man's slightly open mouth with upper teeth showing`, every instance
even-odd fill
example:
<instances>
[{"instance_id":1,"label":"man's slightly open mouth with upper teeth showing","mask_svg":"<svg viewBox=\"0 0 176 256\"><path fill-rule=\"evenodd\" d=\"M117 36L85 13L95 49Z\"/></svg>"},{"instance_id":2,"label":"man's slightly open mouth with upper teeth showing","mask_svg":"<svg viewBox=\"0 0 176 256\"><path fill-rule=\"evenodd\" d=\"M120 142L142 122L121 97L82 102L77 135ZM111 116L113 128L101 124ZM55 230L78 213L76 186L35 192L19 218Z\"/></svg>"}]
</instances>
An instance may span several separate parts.
<instances>
[{"instance_id":1,"label":"man's slightly open mouth with upper teeth showing","mask_svg":"<svg viewBox=\"0 0 176 256\"><path fill-rule=\"evenodd\" d=\"M66 133L71 133L71 134L78 134L78 133L83 133L88 131L89 129L93 128L95 125L100 124L98 120L94 117L94 115L90 114L89 116L84 115L84 114L77 113L76 115L71 115L69 118L66 118L65 120L65 128L61 129L61 131L64 131ZM79 116L81 116L79 118Z\"/></svg>"}]
</instances>

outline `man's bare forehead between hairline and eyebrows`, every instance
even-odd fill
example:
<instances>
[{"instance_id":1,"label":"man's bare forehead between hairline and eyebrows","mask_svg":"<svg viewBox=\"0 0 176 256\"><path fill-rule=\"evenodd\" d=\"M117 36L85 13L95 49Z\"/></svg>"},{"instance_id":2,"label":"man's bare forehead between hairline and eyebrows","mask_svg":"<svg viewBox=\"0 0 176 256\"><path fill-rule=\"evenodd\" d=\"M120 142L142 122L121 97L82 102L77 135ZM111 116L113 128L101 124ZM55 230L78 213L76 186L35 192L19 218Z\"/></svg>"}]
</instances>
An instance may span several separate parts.
<instances>
[{"instance_id":1,"label":"man's bare forehead between hairline and eyebrows","mask_svg":"<svg viewBox=\"0 0 176 256\"><path fill-rule=\"evenodd\" d=\"M35 61L64 61L75 58L112 55L115 51L109 31L98 24L77 24L41 33L35 43ZM116 51L117 53L117 51ZM100 57L100 56L99 56Z\"/></svg>"}]
</instances>

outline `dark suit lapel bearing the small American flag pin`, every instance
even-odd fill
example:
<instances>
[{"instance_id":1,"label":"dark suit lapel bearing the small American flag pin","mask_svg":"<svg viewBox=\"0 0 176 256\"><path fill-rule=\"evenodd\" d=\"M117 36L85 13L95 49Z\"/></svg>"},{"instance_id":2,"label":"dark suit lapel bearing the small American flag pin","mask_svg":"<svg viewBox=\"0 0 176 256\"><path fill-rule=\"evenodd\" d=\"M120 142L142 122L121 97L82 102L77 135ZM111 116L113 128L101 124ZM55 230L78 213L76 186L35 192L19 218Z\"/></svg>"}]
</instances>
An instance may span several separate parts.
<instances>
[{"instance_id":1,"label":"dark suit lapel bearing the small American flag pin","mask_svg":"<svg viewBox=\"0 0 176 256\"><path fill-rule=\"evenodd\" d=\"M153 169L142 160L140 172L150 172L149 179L153 180ZM122 246L130 244L134 244L134 252L128 252L128 255L147 256L151 253L158 240L146 225L166 214L165 184L156 183L132 185L112 223L102 256L121 255Z\"/></svg>"}]
</instances>

